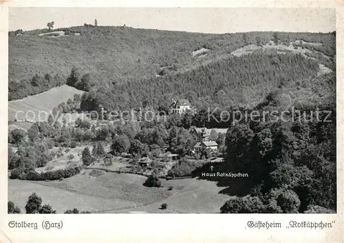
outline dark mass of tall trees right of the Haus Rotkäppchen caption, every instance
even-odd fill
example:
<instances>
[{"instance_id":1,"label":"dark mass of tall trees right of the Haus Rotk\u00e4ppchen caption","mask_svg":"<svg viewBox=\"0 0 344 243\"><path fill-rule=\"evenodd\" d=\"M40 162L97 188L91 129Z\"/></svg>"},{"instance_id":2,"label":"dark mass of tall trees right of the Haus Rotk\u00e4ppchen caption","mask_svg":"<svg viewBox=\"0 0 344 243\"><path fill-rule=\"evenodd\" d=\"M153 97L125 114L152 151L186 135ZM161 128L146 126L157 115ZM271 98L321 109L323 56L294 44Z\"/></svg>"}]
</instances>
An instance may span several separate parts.
<instances>
[{"instance_id":1,"label":"dark mass of tall trees right of the Haus Rotk\u00e4ppchen caption","mask_svg":"<svg viewBox=\"0 0 344 243\"><path fill-rule=\"evenodd\" d=\"M250 196L228 201L223 213L336 211L335 103L321 107L317 119L310 111L294 122L251 121L228 130L224 166L251 175Z\"/></svg>"}]
</instances>

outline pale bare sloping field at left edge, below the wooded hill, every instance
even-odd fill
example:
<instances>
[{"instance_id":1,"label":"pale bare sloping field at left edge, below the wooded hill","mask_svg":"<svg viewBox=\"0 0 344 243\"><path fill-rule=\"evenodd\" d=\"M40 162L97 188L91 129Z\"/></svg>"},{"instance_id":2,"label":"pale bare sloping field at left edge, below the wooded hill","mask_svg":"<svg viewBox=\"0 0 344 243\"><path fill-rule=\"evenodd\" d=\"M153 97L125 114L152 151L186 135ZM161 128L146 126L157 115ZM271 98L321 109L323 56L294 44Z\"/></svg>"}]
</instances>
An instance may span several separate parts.
<instances>
[{"instance_id":1,"label":"pale bare sloping field at left edge, below the wooded hill","mask_svg":"<svg viewBox=\"0 0 344 243\"><path fill-rule=\"evenodd\" d=\"M8 119L23 121L27 119L30 122L47 119L52 109L62 102L67 102L75 94L83 94L83 91L71 86L63 85L52 88L49 91L31 95L22 100L12 100L8 102ZM16 117L17 114L17 117Z\"/></svg>"}]
</instances>

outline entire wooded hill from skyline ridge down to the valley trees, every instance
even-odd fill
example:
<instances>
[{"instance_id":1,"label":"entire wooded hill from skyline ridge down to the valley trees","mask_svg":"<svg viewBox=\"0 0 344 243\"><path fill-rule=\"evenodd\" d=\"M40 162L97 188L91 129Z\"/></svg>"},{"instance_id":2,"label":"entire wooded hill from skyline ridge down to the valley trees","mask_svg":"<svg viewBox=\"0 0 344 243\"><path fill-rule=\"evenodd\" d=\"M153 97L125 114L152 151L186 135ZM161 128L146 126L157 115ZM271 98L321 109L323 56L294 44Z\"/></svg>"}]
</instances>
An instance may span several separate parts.
<instances>
[{"instance_id":1,"label":"entire wooded hill from skyline ridge down to the valley trees","mask_svg":"<svg viewBox=\"0 0 344 243\"><path fill-rule=\"evenodd\" d=\"M92 25L9 33L9 100L61 86L73 68L79 80L89 74L86 91L99 93L92 107L164 110L171 97L188 98L197 108L255 106L281 85L334 71L335 33Z\"/></svg>"}]
</instances>

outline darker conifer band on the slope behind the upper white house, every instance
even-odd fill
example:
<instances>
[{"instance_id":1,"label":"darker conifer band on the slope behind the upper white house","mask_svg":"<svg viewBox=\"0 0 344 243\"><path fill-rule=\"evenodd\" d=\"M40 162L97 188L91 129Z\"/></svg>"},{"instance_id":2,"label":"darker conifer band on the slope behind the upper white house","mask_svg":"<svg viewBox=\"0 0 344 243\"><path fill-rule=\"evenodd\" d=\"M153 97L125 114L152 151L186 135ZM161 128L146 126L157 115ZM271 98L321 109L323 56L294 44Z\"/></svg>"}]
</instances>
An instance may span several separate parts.
<instances>
[{"instance_id":1,"label":"darker conifer band on the slope behind the upper white house","mask_svg":"<svg viewBox=\"0 0 344 243\"><path fill-rule=\"evenodd\" d=\"M316 61L294 54L230 57L184 73L100 88L83 97L82 108L92 111L101 105L116 111L152 106L166 111L173 98L189 99L199 110L248 106L281 85L316 76L318 69Z\"/></svg>"}]
</instances>

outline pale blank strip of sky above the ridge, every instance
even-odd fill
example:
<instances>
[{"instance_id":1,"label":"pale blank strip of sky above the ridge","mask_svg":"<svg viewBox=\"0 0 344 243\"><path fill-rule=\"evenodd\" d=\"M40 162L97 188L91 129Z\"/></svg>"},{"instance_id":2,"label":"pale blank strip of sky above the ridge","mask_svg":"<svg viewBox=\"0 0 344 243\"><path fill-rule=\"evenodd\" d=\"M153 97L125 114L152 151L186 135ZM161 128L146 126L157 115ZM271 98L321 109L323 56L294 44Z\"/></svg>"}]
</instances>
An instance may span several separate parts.
<instances>
[{"instance_id":1,"label":"pale blank strip of sky above the ridge","mask_svg":"<svg viewBox=\"0 0 344 243\"><path fill-rule=\"evenodd\" d=\"M204 33L332 32L334 9L316 8L10 8L9 30L94 23Z\"/></svg>"}]
</instances>

